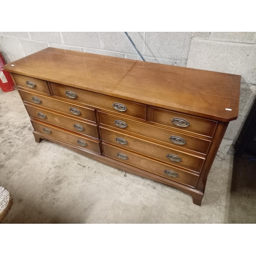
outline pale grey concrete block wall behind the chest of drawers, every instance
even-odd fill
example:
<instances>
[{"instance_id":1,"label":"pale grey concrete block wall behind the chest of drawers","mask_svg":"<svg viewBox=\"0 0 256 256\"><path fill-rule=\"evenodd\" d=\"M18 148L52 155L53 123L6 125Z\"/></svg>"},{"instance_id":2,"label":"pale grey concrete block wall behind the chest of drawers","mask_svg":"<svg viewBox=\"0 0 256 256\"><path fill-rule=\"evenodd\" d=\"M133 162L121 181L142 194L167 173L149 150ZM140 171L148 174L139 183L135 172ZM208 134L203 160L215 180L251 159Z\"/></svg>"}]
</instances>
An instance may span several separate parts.
<instances>
[{"instance_id":1,"label":"pale grey concrete block wall behind the chest of drawers","mask_svg":"<svg viewBox=\"0 0 256 256\"><path fill-rule=\"evenodd\" d=\"M242 75L239 118L220 147L232 148L256 95L256 32L128 32L146 61ZM141 60L124 32L0 32L7 62L47 47Z\"/></svg>"}]
</instances>

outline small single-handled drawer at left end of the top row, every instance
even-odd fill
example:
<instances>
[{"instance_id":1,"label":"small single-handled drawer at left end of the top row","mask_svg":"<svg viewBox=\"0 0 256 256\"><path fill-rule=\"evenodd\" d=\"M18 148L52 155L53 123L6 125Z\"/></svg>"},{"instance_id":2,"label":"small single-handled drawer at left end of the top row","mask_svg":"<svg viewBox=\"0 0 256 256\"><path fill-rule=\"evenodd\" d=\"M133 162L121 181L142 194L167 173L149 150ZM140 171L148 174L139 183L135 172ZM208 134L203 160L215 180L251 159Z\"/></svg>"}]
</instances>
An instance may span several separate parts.
<instances>
[{"instance_id":1,"label":"small single-handled drawer at left end of the top row","mask_svg":"<svg viewBox=\"0 0 256 256\"><path fill-rule=\"evenodd\" d=\"M36 92L51 95L50 90L48 88L48 84L44 80L39 80L28 76L20 76L16 74L13 74L13 77L16 81L18 88L25 88Z\"/></svg>"}]
</instances>

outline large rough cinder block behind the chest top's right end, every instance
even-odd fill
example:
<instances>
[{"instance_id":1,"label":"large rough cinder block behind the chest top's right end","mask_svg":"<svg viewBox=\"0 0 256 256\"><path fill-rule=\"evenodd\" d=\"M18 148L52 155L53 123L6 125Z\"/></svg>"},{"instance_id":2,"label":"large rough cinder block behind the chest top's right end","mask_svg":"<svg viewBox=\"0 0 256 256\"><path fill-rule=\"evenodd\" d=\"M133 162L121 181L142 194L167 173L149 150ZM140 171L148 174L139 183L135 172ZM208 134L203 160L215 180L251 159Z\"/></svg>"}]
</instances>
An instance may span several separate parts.
<instances>
[{"instance_id":1,"label":"large rough cinder block behind the chest top's right end","mask_svg":"<svg viewBox=\"0 0 256 256\"><path fill-rule=\"evenodd\" d=\"M246 83L256 83L256 45L240 45L193 39L187 68L242 75Z\"/></svg>"}]
</instances>

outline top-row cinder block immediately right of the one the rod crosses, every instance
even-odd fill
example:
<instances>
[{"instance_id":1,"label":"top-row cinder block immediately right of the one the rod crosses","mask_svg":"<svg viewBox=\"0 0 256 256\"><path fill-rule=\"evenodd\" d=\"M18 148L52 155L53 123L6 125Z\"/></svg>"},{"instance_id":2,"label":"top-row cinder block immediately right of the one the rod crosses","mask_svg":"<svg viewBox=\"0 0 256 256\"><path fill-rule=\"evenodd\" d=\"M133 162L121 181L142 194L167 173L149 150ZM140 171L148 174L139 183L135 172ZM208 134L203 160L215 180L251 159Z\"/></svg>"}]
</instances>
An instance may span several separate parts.
<instances>
[{"instance_id":1,"label":"top-row cinder block immediately right of the one the rod crosses","mask_svg":"<svg viewBox=\"0 0 256 256\"><path fill-rule=\"evenodd\" d=\"M146 55L187 60L192 32L146 32Z\"/></svg>"}]
</instances>

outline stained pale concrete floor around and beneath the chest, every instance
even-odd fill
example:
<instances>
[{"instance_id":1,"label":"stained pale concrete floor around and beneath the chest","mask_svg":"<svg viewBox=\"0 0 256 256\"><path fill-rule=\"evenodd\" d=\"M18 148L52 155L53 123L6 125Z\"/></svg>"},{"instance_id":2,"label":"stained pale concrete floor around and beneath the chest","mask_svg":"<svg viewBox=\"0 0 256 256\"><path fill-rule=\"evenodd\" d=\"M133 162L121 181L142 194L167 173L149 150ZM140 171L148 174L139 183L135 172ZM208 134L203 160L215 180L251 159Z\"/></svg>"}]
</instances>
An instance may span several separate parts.
<instances>
[{"instance_id":1,"label":"stained pale concrete floor around and beneath the chest","mask_svg":"<svg viewBox=\"0 0 256 256\"><path fill-rule=\"evenodd\" d=\"M17 91L0 92L0 185L14 201L4 223L256 222L249 156L217 155L199 207L178 189L35 143L32 130Z\"/></svg>"}]
</instances>

